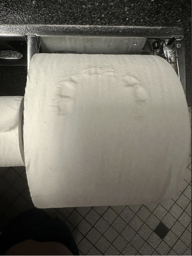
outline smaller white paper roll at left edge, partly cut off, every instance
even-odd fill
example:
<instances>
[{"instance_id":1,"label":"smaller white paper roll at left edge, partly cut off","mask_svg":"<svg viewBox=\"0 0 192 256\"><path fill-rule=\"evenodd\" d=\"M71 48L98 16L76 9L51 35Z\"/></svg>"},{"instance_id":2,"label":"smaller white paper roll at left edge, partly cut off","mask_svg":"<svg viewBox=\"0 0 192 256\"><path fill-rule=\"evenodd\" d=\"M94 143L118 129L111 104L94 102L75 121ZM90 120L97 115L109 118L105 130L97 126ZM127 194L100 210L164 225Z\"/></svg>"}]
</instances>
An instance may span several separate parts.
<instances>
[{"instance_id":1,"label":"smaller white paper roll at left edge, partly cut off","mask_svg":"<svg viewBox=\"0 0 192 256\"><path fill-rule=\"evenodd\" d=\"M24 166L22 96L0 96L0 167Z\"/></svg>"}]
</instances>

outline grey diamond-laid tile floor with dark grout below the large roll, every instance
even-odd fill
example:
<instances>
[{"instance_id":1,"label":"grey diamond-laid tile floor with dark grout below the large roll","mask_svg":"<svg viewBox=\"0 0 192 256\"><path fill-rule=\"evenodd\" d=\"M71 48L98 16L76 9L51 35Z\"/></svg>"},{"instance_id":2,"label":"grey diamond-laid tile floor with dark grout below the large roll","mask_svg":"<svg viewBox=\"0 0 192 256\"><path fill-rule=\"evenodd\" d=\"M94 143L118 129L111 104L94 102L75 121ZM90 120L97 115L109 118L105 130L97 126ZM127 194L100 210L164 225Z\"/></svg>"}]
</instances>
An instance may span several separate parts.
<instances>
[{"instance_id":1,"label":"grey diamond-laid tile floor with dark grout below the large roll","mask_svg":"<svg viewBox=\"0 0 192 256\"><path fill-rule=\"evenodd\" d=\"M0 168L0 231L32 207L25 168ZM180 196L167 203L46 211L70 227L80 255L191 255L191 155Z\"/></svg>"}]
</instances>

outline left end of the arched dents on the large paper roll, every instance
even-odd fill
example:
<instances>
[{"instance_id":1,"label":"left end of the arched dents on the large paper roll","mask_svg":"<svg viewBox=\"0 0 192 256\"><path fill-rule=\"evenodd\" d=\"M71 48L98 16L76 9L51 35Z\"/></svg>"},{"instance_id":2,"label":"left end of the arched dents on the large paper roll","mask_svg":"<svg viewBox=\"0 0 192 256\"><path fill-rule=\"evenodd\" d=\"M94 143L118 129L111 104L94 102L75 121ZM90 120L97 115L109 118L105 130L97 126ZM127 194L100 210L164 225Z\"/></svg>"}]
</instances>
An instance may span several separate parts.
<instances>
[{"instance_id":1,"label":"left end of the arched dents on the large paper roll","mask_svg":"<svg viewBox=\"0 0 192 256\"><path fill-rule=\"evenodd\" d=\"M62 80L57 86L55 97L51 104L51 110L62 116L72 111L75 96L76 82L71 78Z\"/></svg>"}]
</instances>

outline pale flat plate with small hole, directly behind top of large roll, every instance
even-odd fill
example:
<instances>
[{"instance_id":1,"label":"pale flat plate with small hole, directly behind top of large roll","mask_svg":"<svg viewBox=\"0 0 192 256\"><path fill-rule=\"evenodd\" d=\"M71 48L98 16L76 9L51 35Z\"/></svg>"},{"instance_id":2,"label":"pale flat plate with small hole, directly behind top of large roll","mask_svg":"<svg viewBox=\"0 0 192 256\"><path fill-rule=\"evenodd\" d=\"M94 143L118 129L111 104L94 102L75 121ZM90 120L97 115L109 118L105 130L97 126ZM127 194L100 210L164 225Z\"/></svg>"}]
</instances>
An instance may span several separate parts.
<instances>
[{"instance_id":1,"label":"pale flat plate with small hole, directly behind top of large roll","mask_svg":"<svg viewBox=\"0 0 192 256\"><path fill-rule=\"evenodd\" d=\"M40 36L42 52L68 51L84 54L128 54L141 51L143 37Z\"/></svg>"}]
</instances>

